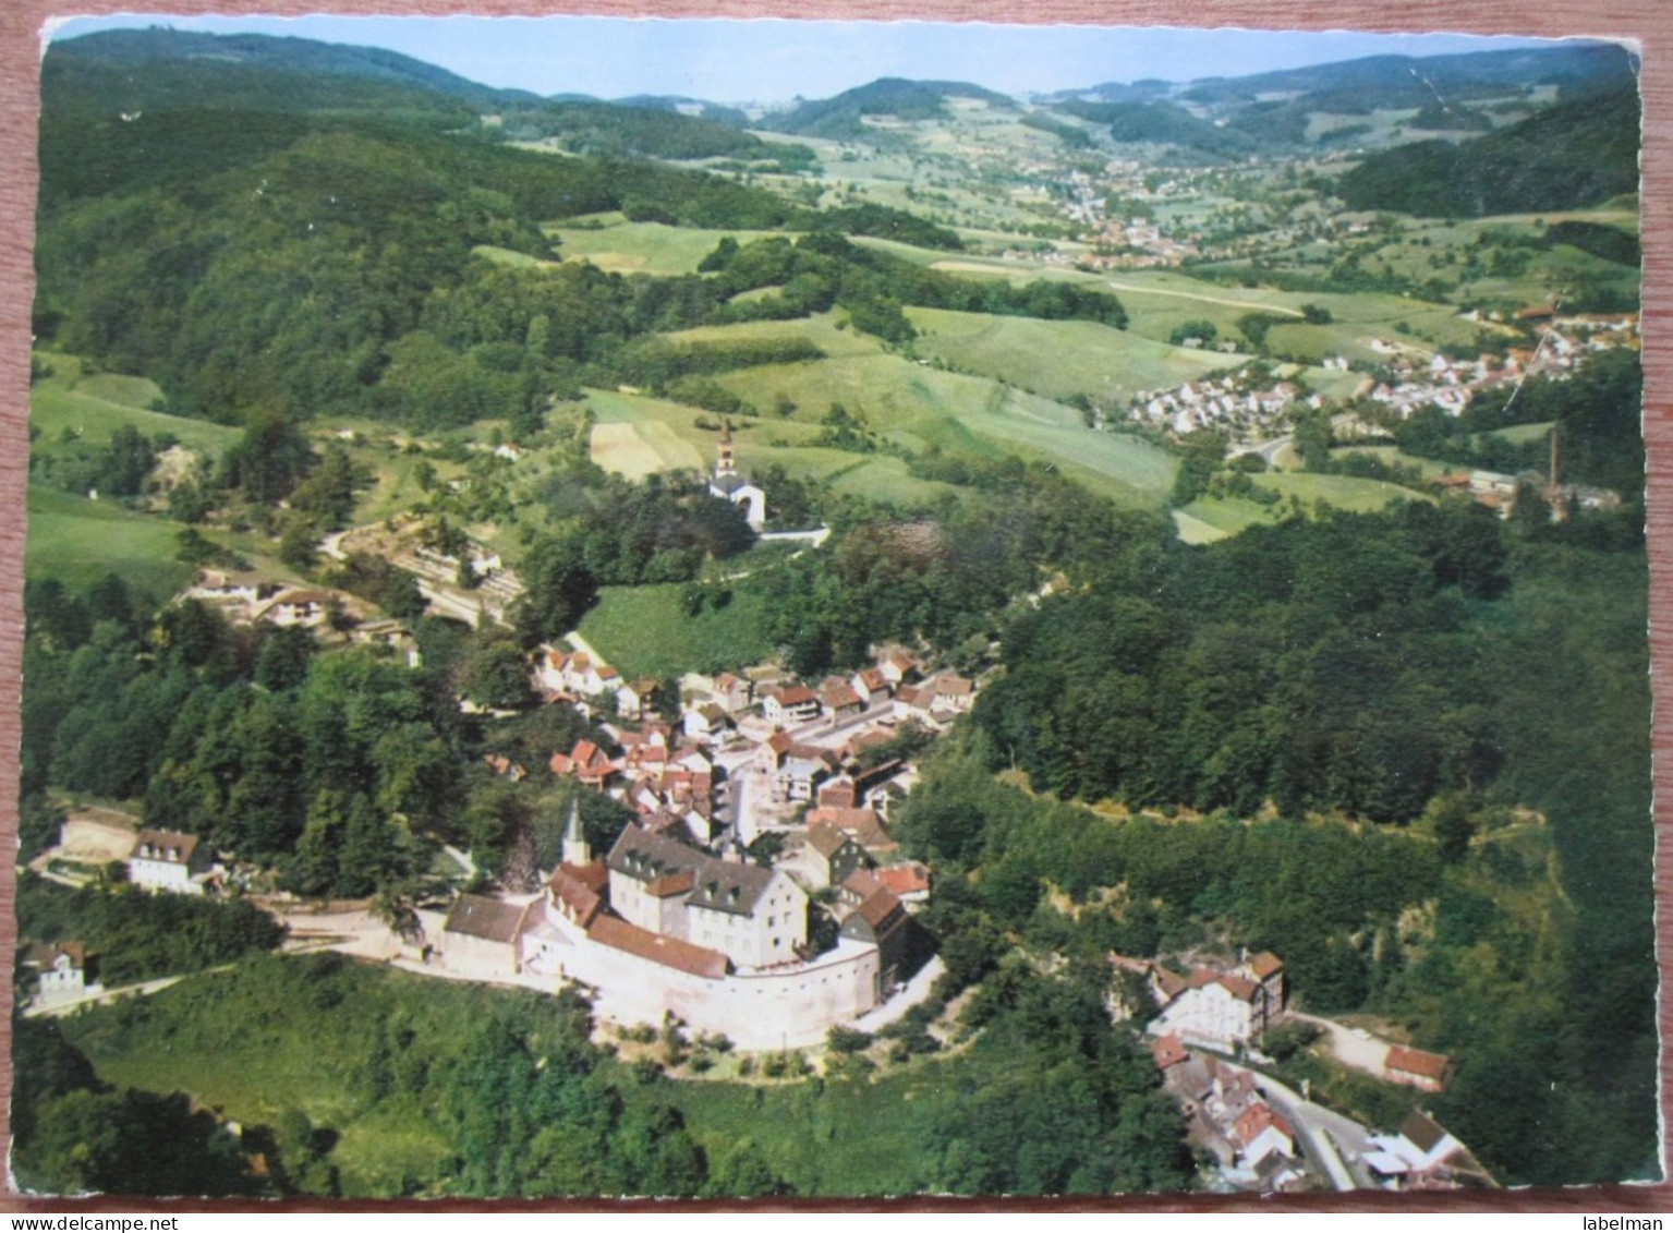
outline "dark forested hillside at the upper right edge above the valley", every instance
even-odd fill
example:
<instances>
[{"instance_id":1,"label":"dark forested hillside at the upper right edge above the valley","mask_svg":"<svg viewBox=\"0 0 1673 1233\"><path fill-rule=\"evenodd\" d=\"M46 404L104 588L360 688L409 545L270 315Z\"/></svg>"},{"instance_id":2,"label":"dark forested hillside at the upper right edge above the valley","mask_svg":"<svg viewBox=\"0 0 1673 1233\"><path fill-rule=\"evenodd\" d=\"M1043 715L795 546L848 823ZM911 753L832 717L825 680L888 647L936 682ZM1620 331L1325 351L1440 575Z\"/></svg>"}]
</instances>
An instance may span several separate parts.
<instances>
[{"instance_id":1,"label":"dark forested hillside at the upper right edge above the valley","mask_svg":"<svg viewBox=\"0 0 1673 1233\"><path fill-rule=\"evenodd\" d=\"M1638 189L1641 105L1633 90L1559 104L1462 146L1425 141L1342 176L1350 209L1440 217L1596 206Z\"/></svg>"}]
</instances>

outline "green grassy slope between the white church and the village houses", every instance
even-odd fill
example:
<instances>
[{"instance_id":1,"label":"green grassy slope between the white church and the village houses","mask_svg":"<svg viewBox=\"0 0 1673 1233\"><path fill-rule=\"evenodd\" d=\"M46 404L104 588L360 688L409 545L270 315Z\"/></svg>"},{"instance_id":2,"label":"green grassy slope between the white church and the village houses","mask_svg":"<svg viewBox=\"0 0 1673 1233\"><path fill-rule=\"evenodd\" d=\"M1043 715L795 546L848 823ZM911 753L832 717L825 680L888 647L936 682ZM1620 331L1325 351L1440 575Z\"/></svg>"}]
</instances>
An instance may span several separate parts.
<instances>
[{"instance_id":1,"label":"green grassy slope between the white church and the village houses","mask_svg":"<svg viewBox=\"0 0 1673 1233\"><path fill-rule=\"evenodd\" d=\"M581 636L627 679L738 669L771 654L761 636L765 601L748 584L733 589L726 607L704 607L694 617L681 606L683 589L678 582L604 587Z\"/></svg>"}]
</instances>

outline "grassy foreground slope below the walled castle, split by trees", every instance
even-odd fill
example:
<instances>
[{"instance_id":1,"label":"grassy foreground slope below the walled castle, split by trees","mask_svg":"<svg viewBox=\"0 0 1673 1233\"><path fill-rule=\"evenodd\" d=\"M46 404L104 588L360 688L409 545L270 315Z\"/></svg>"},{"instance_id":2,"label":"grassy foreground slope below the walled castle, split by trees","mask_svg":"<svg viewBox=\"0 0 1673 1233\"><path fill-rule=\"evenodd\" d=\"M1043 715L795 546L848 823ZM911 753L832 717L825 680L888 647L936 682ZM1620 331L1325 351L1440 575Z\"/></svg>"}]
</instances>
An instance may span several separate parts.
<instances>
[{"instance_id":1,"label":"grassy foreground slope below the walled castle, split by trees","mask_svg":"<svg viewBox=\"0 0 1673 1233\"><path fill-rule=\"evenodd\" d=\"M348 1196L447 1193L460 1144L448 1141L437 1111L398 1091L368 1099L378 1026L410 1034L412 1056L445 1072L483 1016L544 999L370 964L348 965L331 985L298 985L298 965L308 962L274 959L189 977L139 1005L65 1019L64 1034L105 1082L189 1092L246 1126L304 1113L335 1133L330 1161ZM286 974L286 984L271 989L268 974ZM321 1007L293 1000L315 989L355 1000ZM284 994L291 1000L281 1000ZM915 1061L870 1082L644 1084L622 1062L604 1062L602 1072L629 1104L676 1106L711 1161L751 1139L798 1193L898 1195L930 1181L925 1151L949 1106L1010 1064L1004 1051L977 1041L957 1056ZM425 1092L438 1089L433 1074L417 1081Z\"/></svg>"}]
</instances>

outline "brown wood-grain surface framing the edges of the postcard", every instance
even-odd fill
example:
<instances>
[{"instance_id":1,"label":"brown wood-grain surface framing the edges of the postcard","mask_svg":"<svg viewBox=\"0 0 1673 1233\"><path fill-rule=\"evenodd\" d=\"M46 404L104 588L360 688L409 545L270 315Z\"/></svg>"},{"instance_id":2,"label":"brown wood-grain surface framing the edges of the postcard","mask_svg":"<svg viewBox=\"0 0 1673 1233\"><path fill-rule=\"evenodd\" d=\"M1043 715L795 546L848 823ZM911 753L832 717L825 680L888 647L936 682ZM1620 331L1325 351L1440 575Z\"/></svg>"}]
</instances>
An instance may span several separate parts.
<instances>
[{"instance_id":1,"label":"brown wood-grain surface framing the edges of the postcard","mask_svg":"<svg viewBox=\"0 0 1673 1233\"><path fill-rule=\"evenodd\" d=\"M18 686L22 659L22 577L23 577L23 485L28 468L28 316L33 294L33 199L35 119L40 67L40 27L52 17L132 12L151 5L102 0L77 7L45 0L0 0L0 840L10 852L17 836L17 750ZM1666 0L1609 0L1586 5L1534 5L1512 0L954 0L950 3L902 3L900 0L811 0L788 3L768 0L572 0L562 8L514 3L510 0L176 0L154 5L169 13L271 13L299 17L330 10L345 15L550 15L589 13L601 17L795 17L875 18L950 22L1026 22L1087 25L1193 25L1245 28L1382 30L1419 33L1506 35L1599 35L1638 40L1643 52L1645 95L1645 437L1650 450L1648 522L1651 569L1650 646L1653 659L1655 786L1656 786L1656 903L1658 964L1666 980L1673 944L1673 5ZM0 862L0 954L8 954L17 925L12 905L15 878L12 862ZM0 985L0 1089L10 1094L10 980ZM1660 1009L1663 1042L1668 1039L1670 1009L1663 994ZM1668 1123L1670 1072L1666 1049L1661 1056L1663 1124ZM1509 1096L1509 1094L1507 1094ZM0 1136L5 1128L0 1104ZM1668 1144L1663 1141L1663 1173ZM23 1200L0 1193L5 1211L346 1211L355 1208L391 1211L422 1206L425 1211L596 1211L606 1205L581 1203L425 1203L425 1205L323 1205L318 1201L239 1205L231 1201L90 1200L84 1203ZM642 1210L651 1205L616 1205ZM995 1208L1051 1208L1062 1211L1673 1211L1673 1184L1606 1186L1583 1190L1529 1190L1492 1195L1352 1195L1255 1200L1251 1196L1126 1196L1119 1200L1062 1203L1000 1203L994 1200L903 1200L810 1201L763 1205L654 1205L674 1208L808 1210L808 1211L975 1211Z\"/></svg>"}]
</instances>

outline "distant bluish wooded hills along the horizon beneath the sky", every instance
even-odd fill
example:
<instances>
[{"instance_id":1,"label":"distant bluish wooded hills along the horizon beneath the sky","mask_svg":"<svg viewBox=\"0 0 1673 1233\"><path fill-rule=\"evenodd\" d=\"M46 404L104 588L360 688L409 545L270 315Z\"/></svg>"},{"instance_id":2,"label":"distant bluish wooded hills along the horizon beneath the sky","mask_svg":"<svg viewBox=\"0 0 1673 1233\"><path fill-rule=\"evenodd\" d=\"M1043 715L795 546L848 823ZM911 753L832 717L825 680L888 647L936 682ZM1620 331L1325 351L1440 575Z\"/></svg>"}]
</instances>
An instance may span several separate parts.
<instances>
[{"instance_id":1,"label":"distant bluish wooded hills along the horizon beneath the sky","mask_svg":"<svg viewBox=\"0 0 1673 1233\"><path fill-rule=\"evenodd\" d=\"M146 72L134 72L136 65ZM972 82L882 77L830 99L798 100L751 125L738 107L684 95L542 99L480 85L373 47L152 27L52 43L42 69L49 115L43 147L54 124L97 129L139 112L154 114L159 134L177 134L182 110L259 112L264 119L251 129L256 147L278 147L293 136L283 115L375 114L457 130L482 125L482 117L494 114L499 129L489 136L552 141L570 152L729 159L798 171L815 164L808 147L756 134L875 139L880 117L947 119L955 100L974 99L1012 110L1076 147L1103 137L1116 146L1144 146L1154 156L1173 152L1188 162L1392 146L1402 152L1387 159L1374 154L1343 179L1355 202L1387 209L1417 202L1427 212L1467 214L1497 202L1534 201L1537 209L1588 204L1636 186L1636 124L1624 119L1636 105L1636 59L1613 43L1554 43L1462 55L1379 55L1191 82L1104 82L1039 95L1032 109ZM1599 100L1596 119L1588 120L1584 100ZM1517 124L1521 115L1529 119ZM1549 127L1539 129L1541 122ZM1524 129L1529 124L1536 127ZM1527 139L1526 132L1544 137ZM1444 142L1402 144L1432 134L1450 142L1486 136L1469 142L1469 157ZM132 154L127 134L104 136L114 157ZM217 125L216 136L233 134ZM94 132L92 141L77 144L84 151L97 147L99 137ZM1546 137L1554 137L1554 146ZM226 156L238 161L241 152L234 147ZM74 179L75 172L65 172ZM82 174L100 179L97 169Z\"/></svg>"}]
</instances>

